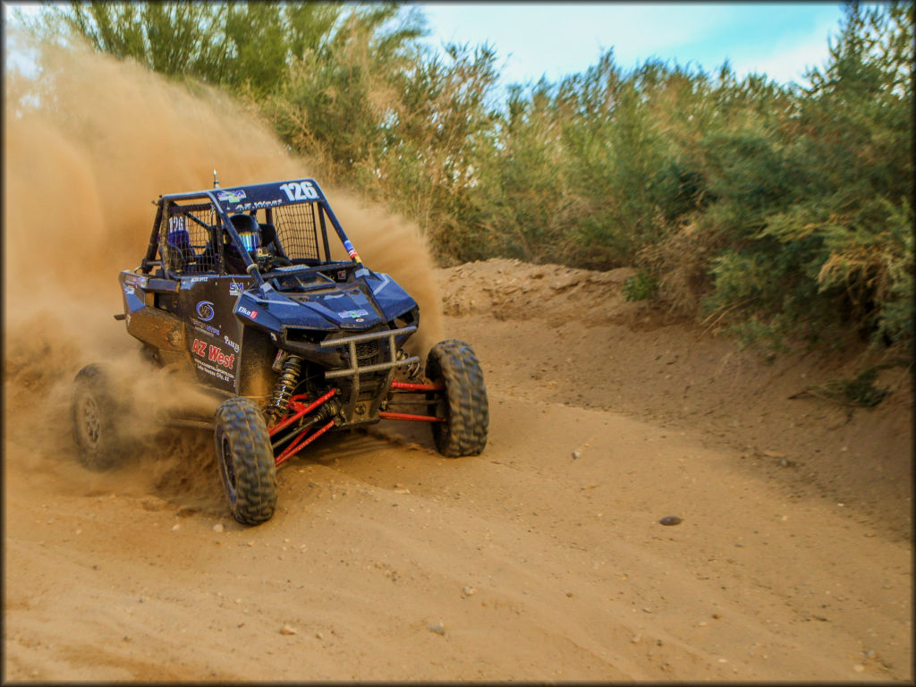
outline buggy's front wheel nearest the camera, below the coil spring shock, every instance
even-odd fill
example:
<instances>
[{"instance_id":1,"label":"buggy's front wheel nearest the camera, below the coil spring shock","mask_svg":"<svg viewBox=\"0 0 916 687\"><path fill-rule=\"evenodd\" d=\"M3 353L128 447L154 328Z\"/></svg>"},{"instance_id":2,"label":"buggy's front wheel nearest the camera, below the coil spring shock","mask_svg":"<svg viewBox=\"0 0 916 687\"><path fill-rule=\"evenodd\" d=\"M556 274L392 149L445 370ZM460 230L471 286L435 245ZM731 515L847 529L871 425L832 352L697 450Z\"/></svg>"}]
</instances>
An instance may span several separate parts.
<instances>
[{"instance_id":1,"label":"buggy's front wheel nearest the camera, below the coil spring shock","mask_svg":"<svg viewBox=\"0 0 916 687\"><path fill-rule=\"evenodd\" d=\"M277 466L264 415L249 398L216 409L216 463L229 509L243 525L271 518L277 506Z\"/></svg>"}]
</instances>

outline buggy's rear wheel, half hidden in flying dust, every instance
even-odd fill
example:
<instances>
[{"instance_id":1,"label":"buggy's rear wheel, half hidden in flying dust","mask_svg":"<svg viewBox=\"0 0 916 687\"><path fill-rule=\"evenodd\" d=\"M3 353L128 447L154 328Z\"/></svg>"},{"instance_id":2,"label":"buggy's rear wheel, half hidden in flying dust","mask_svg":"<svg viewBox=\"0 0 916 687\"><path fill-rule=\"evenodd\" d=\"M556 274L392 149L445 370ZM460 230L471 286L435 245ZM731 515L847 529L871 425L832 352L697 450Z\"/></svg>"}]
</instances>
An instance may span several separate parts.
<instances>
[{"instance_id":1,"label":"buggy's rear wheel, half hidden in flying dust","mask_svg":"<svg viewBox=\"0 0 916 687\"><path fill-rule=\"evenodd\" d=\"M91 470L108 470L124 456L112 388L112 380L101 365L86 365L73 380L73 441L80 463Z\"/></svg>"}]
</instances>

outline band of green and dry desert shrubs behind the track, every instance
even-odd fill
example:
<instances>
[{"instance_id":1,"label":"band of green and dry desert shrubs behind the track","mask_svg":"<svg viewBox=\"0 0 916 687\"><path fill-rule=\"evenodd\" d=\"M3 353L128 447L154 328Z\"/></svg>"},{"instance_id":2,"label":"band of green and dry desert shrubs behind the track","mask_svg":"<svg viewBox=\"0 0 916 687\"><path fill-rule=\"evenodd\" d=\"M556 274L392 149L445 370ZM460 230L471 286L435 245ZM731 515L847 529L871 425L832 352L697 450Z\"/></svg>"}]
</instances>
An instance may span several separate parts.
<instances>
[{"instance_id":1,"label":"band of green and dry desert shrubs behind the track","mask_svg":"<svg viewBox=\"0 0 916 687\"><path fill-rule=\"evenodd\" d=\"M442 264L635 263L628 292L772 348L912 340L913 14L847 5L804 86L606 50L504 104L496 49L439 57L407 5L69 3L40 24L230 89Z\"/></svg>"}]
</instances>

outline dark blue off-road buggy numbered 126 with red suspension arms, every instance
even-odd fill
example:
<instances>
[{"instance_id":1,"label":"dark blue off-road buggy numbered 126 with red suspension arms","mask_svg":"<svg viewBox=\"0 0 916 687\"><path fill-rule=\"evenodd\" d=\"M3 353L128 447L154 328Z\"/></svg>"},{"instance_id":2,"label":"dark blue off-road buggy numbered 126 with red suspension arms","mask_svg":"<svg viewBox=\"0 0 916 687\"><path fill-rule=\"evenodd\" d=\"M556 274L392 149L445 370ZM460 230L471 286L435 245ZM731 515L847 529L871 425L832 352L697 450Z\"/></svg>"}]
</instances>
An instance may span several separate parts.
<instances>
[{"instance_id":1,"label":"dark blue off-road buggy numbered 126 with red suspension arms","mask_svg":"<svg viewBox=\"0 0 916 687\"><path fill-rule=\"evenodd\" d=\"M483 451L488 409L474 351L443 341L424 368L403 350L420 322L416 301L365 267L314 180L214 183L156 205L146 256L118 276L125 311L115 318L154 365L218 397L215 417L169 424L214 431L236 520L269 519L278 465L327 431L415 420L430 423L443 455ZM104 366L82 368L73 433L90 468L125 453L118 405Z\"/></svg>"}]
</instances>

